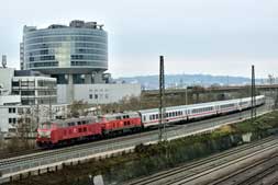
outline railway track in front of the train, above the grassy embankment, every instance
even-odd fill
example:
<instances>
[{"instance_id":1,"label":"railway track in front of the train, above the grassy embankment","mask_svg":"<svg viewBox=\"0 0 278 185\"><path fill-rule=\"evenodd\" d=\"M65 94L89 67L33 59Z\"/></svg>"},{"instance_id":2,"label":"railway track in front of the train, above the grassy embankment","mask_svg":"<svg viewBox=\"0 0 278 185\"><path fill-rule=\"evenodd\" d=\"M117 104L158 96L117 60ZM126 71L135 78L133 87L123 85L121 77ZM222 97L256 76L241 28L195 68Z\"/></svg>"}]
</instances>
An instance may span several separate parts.
<instances>
[{"instance_id":1,"label":"railway track in front of the train, above the grassy embankment","mask_svg":"<svg viewBox=\"0 0 278 185\"><path fill-rule=\"evenodd\" d=\"M262 111L266 109L262 108ZM213 127L216 124L221 125L225 124L226 122L240 120L238 114L241 114L241 116L243 117L246 117L249 116L249 111L232 115L224 115L221 117L214 117L211 119L204 119L187 125L177 125L175 127L167 128L168 136L173 137L185 132L190 134L192 131L198 131L200 129ZM82 158L90 154L112 151L121 148L134 147L140 143L156 141L157 139L158 139L157 130L153 130L135 135L129 135L124 137L118 137L108 140L100 140L78 146L70 146L62 149L38 151L36 153L0 160L0 171L2 174L14 173L26 169L36 167L40 165L66 161L69 159Z\"/></svg>"}]
</instances>

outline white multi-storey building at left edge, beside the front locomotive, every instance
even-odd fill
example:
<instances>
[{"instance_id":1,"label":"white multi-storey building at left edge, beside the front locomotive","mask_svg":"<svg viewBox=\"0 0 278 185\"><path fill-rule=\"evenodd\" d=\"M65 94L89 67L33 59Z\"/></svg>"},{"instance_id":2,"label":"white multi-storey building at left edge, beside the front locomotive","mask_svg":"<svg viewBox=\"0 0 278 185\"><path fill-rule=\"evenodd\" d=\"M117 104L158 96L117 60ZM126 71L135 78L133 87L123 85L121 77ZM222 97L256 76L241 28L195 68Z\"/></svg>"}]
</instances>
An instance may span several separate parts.
<instances>
[{"instance_id":1,"label":"white multi-storey building at left edge, beside the front locomotive","mask_svg":"<svg viewBox=\"0 0 278 185\"><path fill-rule=\"evenodd\" d=\"M54 119L66 112L67 105L57 104L55 78L35 71L0 68L1 132L16 132L21 123L35 131L38 122Z\"/></svg>"}]
</instances>

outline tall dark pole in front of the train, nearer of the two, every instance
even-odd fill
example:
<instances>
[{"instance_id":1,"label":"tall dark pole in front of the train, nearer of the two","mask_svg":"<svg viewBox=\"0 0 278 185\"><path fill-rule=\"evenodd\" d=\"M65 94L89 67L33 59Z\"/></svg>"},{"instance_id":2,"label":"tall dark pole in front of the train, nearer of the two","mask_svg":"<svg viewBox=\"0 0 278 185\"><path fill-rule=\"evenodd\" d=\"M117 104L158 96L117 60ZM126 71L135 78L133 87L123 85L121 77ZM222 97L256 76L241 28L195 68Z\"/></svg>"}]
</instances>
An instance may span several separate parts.
<instances>
[{"instance_id":1,"label":"tall dark pole in front of the train, nearer of the two","mask_svg":"<svg viewBox=\"0 0 278 185\"><path fill-rule=\"evenodd\" d=\"M160 62L159 62L159 134L158 134L158 139L159 141L163 140L163 131L166 134L166 128L165 128L165 108L164 108L164 94L165 94L165 80L164 80L164 56L159 57ZM164 128L164 130L163 130Z\"/></svg>"}]
</instances>

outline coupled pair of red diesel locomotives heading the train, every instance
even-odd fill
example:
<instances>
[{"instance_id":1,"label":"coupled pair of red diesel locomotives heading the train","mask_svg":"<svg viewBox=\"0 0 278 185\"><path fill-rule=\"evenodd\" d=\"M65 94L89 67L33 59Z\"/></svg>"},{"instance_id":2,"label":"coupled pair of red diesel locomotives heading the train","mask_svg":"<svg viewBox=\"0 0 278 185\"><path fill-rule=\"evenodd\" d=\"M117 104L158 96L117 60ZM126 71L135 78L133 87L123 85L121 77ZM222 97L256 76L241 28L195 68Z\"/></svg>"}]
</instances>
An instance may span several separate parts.
<instances>
[{"instance_id":1,"label":"coupled pair of red diesel locomotives heading the train","mask_svg":"<svg viewBox=\"0 0 278 185\"><path fill-rule=\"evenodd\" d=\"M36 143L42 148L51 148L141 129L138 113L57 119L40 124Z\"/></svg>"}]
</instances>

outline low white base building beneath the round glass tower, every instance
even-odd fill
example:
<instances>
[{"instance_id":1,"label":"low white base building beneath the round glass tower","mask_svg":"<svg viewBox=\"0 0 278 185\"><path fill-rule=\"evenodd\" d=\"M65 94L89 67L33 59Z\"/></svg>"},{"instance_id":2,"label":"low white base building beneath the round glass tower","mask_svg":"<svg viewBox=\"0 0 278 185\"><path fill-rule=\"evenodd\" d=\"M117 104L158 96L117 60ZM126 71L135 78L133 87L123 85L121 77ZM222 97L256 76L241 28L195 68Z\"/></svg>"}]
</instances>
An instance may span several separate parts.
<instances>
[{"instance_id":1,"label":"low white base building beneath the round glass tower","mask_svg":"<svg viewBox=\"0 0 278 185\"><path fill-rule=\"evenodd\" d=\"M57 85L58 103L85 101L90 104L107 104L122 100L124 96L140 96L140 84L74 84L73 90L67 91L67 84Z\"/></svg>"}]
</instances>

